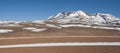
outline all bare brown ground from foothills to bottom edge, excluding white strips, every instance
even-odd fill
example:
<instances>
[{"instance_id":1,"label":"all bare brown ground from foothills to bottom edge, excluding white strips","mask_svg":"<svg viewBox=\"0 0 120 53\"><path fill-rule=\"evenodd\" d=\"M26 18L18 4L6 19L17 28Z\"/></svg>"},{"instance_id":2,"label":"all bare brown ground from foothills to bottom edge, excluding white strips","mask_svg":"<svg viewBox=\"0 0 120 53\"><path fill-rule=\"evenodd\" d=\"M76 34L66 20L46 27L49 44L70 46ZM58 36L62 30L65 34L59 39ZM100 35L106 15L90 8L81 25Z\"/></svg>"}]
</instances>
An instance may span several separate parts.
<instances>
[{"instance_id":1,"label":"all bare brown ground from foothills to bottom edge, excluding white strips","mask_svg":"<svg viewBox=\"0 0 120 53\"><path fill-rule=\"evenodd\" d=\"M5 27L0 27L4 29ZM6 29L6 28L5 28ZM8 27L15 32L0 34L0 38L12 37L38 37L38 36L120 36L120 31L102 30L91 28L63 28L43 32L31 32L21 27ZM120 42L115 37L62 37L62 38L21 38L21 39L0 39L1 45L29 44L29 43L50 43L50 42ZM61 46L61 47L24 47L4 48L0 53L120 53L120 46Z\"/></svg>"}]
</instances>

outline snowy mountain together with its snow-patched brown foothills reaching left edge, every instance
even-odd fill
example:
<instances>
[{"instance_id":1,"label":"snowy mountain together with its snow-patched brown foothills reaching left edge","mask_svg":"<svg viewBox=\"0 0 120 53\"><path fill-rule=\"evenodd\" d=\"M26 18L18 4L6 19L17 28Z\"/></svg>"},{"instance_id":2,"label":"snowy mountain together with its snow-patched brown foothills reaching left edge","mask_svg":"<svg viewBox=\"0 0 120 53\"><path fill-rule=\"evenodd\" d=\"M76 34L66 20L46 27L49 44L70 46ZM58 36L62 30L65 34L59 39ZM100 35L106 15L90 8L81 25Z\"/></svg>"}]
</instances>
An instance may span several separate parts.
<instances>
[{"instance_id":1,"label":"snowy mountain together with its snow-patched brown foothills reaching left edge","mask_svg":"<svg viewBox=\"0 0 120 53\"><path fill-rule=\"evenodd\" d=\"M120 19L110 14L88 14L83 11L61 12L47 20L0 21L0 33L16 31L57 31L70 28L93 28L120 31Z\"/></svg>"}]
</instances>

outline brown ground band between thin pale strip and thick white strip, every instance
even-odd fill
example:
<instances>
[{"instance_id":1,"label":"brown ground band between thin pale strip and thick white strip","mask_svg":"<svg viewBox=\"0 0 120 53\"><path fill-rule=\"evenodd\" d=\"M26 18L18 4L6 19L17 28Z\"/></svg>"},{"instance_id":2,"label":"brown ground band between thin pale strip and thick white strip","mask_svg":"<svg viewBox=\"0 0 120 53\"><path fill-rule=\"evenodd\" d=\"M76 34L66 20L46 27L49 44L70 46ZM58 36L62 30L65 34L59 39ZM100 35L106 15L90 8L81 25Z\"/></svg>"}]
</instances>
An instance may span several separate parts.
<instances>
[{"instance_id":1,"label":"brown ground band between thin pale strip and thick white strip","mask_svg":"<svg viewBox=\"0 0 120 53\"><path fill-rule=\"evenodd\" d=\"M0 40L0 45L50 42L120 42L120 38L26 38Z\"/></svg>"}]
</instances>

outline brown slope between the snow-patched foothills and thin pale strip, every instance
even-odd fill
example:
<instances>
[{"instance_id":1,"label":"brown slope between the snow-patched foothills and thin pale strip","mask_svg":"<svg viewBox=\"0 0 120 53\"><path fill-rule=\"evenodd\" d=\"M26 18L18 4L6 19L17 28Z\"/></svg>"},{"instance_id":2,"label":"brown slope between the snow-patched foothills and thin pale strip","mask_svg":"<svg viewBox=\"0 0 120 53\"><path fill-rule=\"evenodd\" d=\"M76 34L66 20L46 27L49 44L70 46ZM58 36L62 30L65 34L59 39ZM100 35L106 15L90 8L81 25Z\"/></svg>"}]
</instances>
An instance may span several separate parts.
<instances>
[{"instance_id":1,"label":"brown slope between the snow-patched foothills and thin pale strip","mask_svg":"<svg viewBox=\"0 0 120 53\"><path fill-rule=\"evenodd\" d=\"M21 28L9 28L14 32L0 34L0 37L31 37L31 36L120 36L120 31L117 30L103 30L92 28L63 28L48 30L43 32L31 32Z\"/></svg>"}]
</instances>

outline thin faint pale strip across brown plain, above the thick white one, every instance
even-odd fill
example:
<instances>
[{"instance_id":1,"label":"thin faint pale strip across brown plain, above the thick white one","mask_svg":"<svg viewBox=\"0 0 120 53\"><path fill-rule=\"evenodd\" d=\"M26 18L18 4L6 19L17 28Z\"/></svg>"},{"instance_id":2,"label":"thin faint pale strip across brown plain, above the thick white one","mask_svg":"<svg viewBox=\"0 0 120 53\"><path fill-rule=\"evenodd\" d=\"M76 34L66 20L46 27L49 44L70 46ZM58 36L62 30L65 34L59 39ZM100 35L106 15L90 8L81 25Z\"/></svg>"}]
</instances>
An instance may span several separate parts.
<instances>
[{"instance_id":1,"label":"thin faint pale strip across brown plain, above the thick white one","mask_svg":"<svg viewBox=\"0 0 120 53\"><path fill-rule=\"evenodd\" d=\"M34 36L34 37L9 37L0 40L26 39L26 38L120 38L120 36Z\"/></svg>"}]
</instances>

